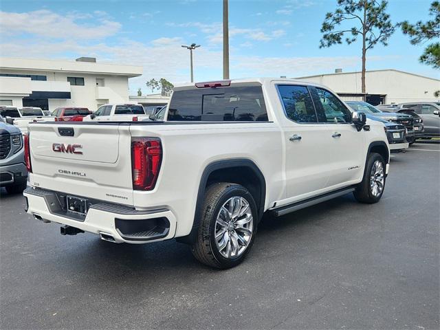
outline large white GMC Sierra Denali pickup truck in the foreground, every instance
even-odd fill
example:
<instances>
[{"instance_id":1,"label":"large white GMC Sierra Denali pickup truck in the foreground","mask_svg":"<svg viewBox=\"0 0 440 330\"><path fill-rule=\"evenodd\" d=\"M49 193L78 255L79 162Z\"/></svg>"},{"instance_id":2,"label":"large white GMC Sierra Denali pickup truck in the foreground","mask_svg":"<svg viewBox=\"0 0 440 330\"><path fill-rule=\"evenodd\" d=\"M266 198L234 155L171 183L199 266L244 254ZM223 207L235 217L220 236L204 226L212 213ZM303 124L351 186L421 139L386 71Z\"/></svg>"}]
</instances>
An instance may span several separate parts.
<instances>
[{"instance_id":1,"label":"large white GMC Sierra Denali pickup truck in the foreground","mask_svg":"<svg viewBox=\"0 0 440 330\"><path fill-rule=\"evenodd\" d=\"M26 210L115 243L178 239L239 264L265 212L384 192L384 125L320 85L286 79L175 87L165 121L30 124Z\"/></svg>"}]
</instances>

